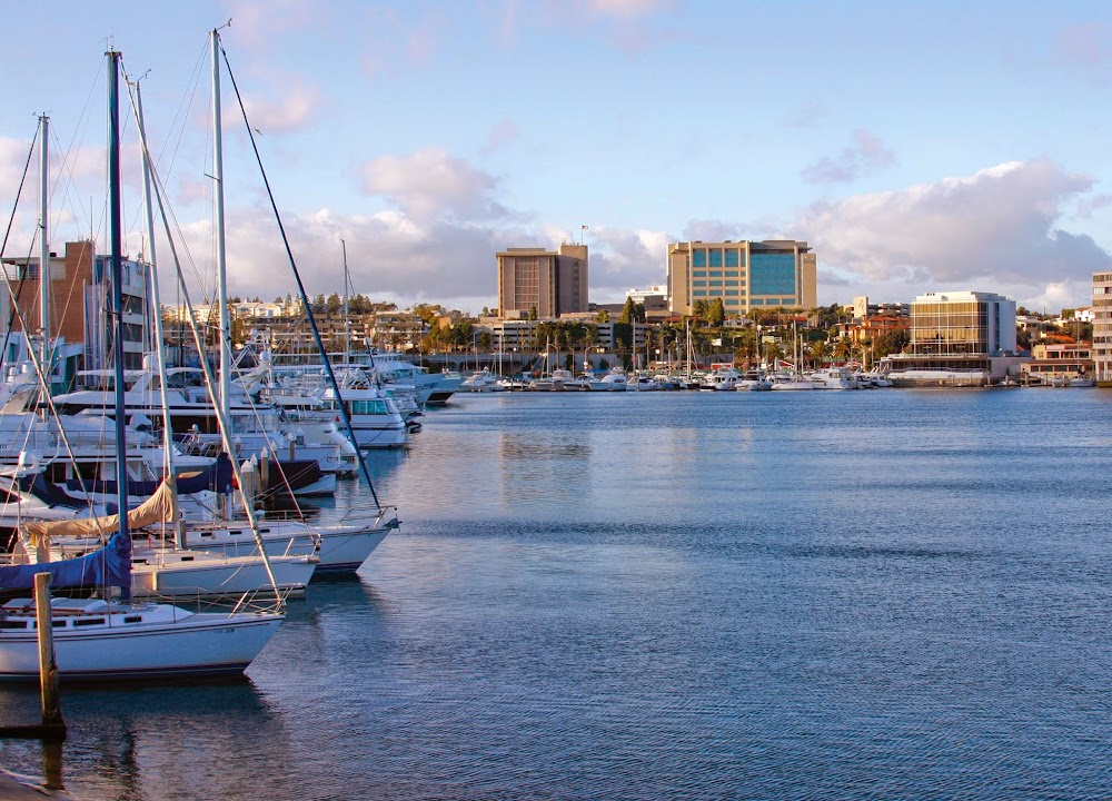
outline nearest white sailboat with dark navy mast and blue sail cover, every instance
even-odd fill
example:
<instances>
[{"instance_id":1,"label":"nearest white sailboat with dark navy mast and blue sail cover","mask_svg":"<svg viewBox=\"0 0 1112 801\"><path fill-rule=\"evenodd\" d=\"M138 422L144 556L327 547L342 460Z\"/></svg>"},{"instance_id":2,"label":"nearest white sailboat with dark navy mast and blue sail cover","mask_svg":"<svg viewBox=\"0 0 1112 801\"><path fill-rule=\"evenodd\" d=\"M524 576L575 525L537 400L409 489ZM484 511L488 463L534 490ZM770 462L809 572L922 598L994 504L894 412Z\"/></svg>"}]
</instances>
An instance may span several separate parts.
<instances>
[{"instance_id":1,"label":"nearest white sailboat with dark navy mast and blue sail cover","mask_svg":"<svg viewBox=\"0 0 1112 801\"><path fill-rule=\"evenodd\" d=\"M111 211L112 319L122 319L119 62L109 65L109 182ZM123 385L123 343L115 337L117 386ZM126 427L122 393L117 399L117 471L120 508L127 508ZM165 514L163 495L153 496L141 515ZM172 508L172 497L169 501ZM137 676L208 676L242 672L285 620L281 599L275 606L250 610L246 600L231 612L191 612L171 604L135 602L131 597L131 535L129 514L91 520L92 526L112 531L107 544L80 560L49 565L0 567L0 585L24 589L34 574L50 572L59 583L86 575L101 584L105 597L56 599L51 603L53 641L59 675L66 680L121 681ZM72 523L72 521L63 522ZM49 525L49 524L48 524ZM49 531L49 530L48 530ZM265 561L265 557L264 557ZM269 570L268 570L269 572ZM76 575L72 575L76 574ZM118 600L117 595L118 593ZM14 599L0 606L0 681L37 681L39 645L34 601Z\"/></svg>"}]
</instances>

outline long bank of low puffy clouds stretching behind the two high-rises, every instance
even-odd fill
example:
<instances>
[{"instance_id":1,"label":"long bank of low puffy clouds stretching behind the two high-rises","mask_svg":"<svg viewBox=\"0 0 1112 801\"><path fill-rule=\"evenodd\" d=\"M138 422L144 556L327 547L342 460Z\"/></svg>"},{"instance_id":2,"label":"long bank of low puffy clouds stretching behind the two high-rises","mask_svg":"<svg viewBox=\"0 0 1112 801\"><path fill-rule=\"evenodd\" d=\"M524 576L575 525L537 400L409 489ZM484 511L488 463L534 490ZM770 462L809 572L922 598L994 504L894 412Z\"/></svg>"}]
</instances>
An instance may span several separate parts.
<instances>
[{"instance_id":1,"label":"long bank of low puffy clouds stretching behind the two high-rises","mask_svg":"<svg viewBox=\"0 0 1112 801\"><path fill-rule=\"evenodd\" d=\"M440 150L376 159L364 179L365 189L391 208L364 216L320 210L286 221L310 293L342 286L344 238L358 291L403 304L489 298L483 305L493 306L495 253L555 248L579 237L502 207L494 200L497 179ZM816 202L778 225L691 220L679 235L593 225L583 233L590 248L590 299L614 303L631 288L663 284L668 241L798 238L818 254L824 304L860 294L910 300L927 290L977 289L1033 307L1088 305L1092 273L1112 268L1112 258L1090 236L1064 230L1060 219L1094 200L1092 189L1090 177L1037 159ZM285 270L280 240L271 222L244 209L234 214L232 291L266 294L260 287L274 286Z\"/></svg>"}]
</instances>

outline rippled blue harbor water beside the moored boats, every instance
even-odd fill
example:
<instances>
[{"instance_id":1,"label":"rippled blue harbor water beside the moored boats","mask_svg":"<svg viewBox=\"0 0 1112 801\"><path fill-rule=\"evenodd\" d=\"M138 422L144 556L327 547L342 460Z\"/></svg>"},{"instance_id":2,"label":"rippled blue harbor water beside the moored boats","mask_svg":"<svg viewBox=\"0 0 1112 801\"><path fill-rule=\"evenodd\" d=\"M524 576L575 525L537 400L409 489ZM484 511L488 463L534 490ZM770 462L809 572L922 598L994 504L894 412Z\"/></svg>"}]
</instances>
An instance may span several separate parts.
<instances>
[{"instance_id":1,"label":"rippled blue harbor water beside the moored boats","mask_svg":"<svg viewBox=\"0 0 1112 801\"><path fill-rule=\"evenodd\" d=\"M64 690L63 781L1110 798L1110 422L1083 389L457 396L371 454L401 530L295 602L248 681ZM22 773L41 753L0 741Z\"/></svg>"}]
</instances>

